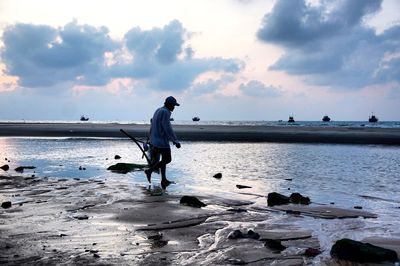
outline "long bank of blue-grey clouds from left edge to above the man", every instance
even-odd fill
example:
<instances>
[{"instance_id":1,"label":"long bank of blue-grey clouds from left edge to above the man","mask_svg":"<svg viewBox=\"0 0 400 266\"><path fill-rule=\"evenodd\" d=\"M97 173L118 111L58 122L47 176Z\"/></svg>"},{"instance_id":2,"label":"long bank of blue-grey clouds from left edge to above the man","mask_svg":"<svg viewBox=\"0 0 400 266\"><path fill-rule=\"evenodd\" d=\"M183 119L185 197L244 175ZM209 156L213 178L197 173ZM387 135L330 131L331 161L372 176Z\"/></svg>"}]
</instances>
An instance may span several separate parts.
<instances>
[{"instance_id":1,"label":"long bank of blue-grey clouds from left edge to above the man","mask_svg":"<svg viewBox=\"0 0 400 266\"><path fill-rule=\"evenodd\" d=\"M182 91L204 72L242 69L233 58L195 58L188 35L178 20L151 30L134 27L122 41L111 39L105 27L75 21L62 28L16 24L4 31L1 58L6 74L31 88L104 86L131 78L150 90Z\"/></svg>"}]
</instances>

